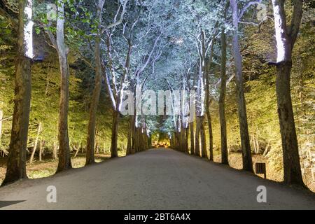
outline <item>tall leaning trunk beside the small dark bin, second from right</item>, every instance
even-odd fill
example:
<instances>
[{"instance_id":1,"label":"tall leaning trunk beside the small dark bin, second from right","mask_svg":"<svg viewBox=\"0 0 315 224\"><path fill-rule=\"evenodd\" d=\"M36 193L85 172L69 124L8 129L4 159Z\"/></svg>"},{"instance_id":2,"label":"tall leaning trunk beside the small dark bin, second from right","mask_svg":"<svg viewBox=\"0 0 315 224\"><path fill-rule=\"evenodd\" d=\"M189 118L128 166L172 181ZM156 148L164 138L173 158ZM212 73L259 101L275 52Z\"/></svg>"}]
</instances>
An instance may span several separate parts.
<instances>
[{"instance_id":1,"label":"tall leaning trunk beside the small dark bin, second from right","mask_svg":"<svg viewBox=\"0 0 315 224\"><path fill-rule=\"evenodd\" d=\"M230 0L232 6L233 19L233 37L232 37L232 52L235 62L235 80L237 88L237 109L239 113L239 131L241 135L241 153L243 160L243 169L253 172L253 162L251 159L251 144L248 134L248 123L246 115L246 101L244 94L244 80L243 72L241 71L241 52L239 51L239 37L238 37L238 9L236 0Z\"/></svg>"}]
</instances>

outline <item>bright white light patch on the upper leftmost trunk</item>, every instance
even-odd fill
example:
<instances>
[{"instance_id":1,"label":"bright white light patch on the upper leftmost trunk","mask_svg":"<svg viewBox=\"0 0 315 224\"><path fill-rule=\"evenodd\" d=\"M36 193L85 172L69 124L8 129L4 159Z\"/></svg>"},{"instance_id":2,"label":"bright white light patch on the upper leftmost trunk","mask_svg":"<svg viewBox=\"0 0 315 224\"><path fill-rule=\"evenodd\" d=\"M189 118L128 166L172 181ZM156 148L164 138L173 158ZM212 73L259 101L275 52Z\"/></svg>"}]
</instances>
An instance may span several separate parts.
<instances>
[{"instance_id":1,"label":"bright white light patch on the upper leftmost trunk","mask_svg":"<svg viewBox=\"0 0 315 224\"><path fill-rule=\"evenodd\" d=\"M33 25L34 22L31 21L32 16L32 0L27 1L27 6L25 7L25 15L27 16L27 22L24 27L24 38L25 38L25 55L29 58L33 58Z\"/></svg>"}]
</instances>

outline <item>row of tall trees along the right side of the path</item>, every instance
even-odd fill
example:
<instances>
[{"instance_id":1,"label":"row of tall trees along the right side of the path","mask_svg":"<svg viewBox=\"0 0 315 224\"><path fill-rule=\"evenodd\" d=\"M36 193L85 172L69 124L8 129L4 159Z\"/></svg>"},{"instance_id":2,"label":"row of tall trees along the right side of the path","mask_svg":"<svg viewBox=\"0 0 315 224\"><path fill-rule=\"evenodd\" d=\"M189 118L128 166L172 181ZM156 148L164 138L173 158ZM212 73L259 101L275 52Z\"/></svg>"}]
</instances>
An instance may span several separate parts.
<instances>
[{"instance_id":1,"label":"row of tall trees along the right side of the path","mask_svg":"<svg viewBox=\"0 0 315 224\"><path fill-rule=\"evenodd\" d=\"M196 127L194 130L193 123L190 123L190 134L188 134L189 125L184 122L185 119L183 118L183 115L177 116L177 120L174 122L175 125L173 127L175 131L174 134L172 134L171 141L172 147L188 152L188 138L190 137L190 153L200 155L201 157L208 157L209 160L213 160L214 158L211 115L209 112L209 104L211 102L211 99L209 99L209 76L211 76L211 70L214 72L215 69L215 64L212 63L212 58L214 57L214 42L218 41L219 37L221 37L221 46L219 47L221 48L221 77L218 80L220 85L220 97L218 104L221 125L221 161L223 164L228 164L225 122L225 92L227 85L226 35L230 34L232 61L229 66L232 64L235 69L233 77L235 77L236 83L236 99L239 116L239 133L243 169L249 172L253 172L253 164L251 159L251 139L248 134L246 100L244 94L244 68L242 66L242 56L239 45L239 23L251 24L251 22L244 21L244 18L246 18L246 11L249 10L250 6L260 3L262 3L262 1L242 3L241 1L231 0L224 3L221 2L221 8L219 9L220 12L216 12L214 17L211 18L212 27L202 20L198 23L197 29L199 29L199 33L195 36L195 45L197 45L197 55L199 55L199 57L196 59L197 63L190 67L191 70L195 70L195 76L193 76L193 80L189 80L189 76L184 77L183 80L183 83L192 81L197 92L195 104ZM284 3L285 1L272 1L277 59L276 62L269 62L269 65L276 66L276 99L283 149L284 182L304 185L302 181L300 156L297 146L297 135L295 132L293 106L290 97L292 52L302 19L303 4L302 1L292 2L293 11L290 12L292 18L290 22L286 22L286 12L288 12L288 10L286 10ZM239 6L242 7L241 10L239 10ZM210 8L213 12L214 6ZM198 20L200 13L196 13L195 15L197 19L193 19ZM265 17L267 18L267 14ZM203 17L201 16L201 18ZM248 17L246 19L248 19ZM287 24L290 24L290 26ZM204 115L204 113L206 113L206 115ZM207 144L204 134L204 118L206 116L209 126L209 155L207 155Z\"/></svg>"}]
</instances>

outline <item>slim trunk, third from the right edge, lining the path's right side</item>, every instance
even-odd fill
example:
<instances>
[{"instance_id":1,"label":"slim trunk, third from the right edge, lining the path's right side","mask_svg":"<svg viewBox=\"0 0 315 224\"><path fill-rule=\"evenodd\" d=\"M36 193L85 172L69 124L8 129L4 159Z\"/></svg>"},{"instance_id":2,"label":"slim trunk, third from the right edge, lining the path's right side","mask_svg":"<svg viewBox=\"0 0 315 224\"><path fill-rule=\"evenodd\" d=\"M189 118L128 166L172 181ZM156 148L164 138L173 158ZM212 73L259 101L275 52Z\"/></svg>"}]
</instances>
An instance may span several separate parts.
<instances>
[{"instance_id":1,"label":"slim trunk, third from the right edge, lining the path's right side","mask_svg":"<svg viewBox=\"0 0 315 224\"><path fill-rule=\"evenodd\" d=\"M226 17L226 10L225 10ZM224 17L224 18L225 18ZM225 30L221 32L221 90L219 97L219 115L221 132L221 163L229 165L228 160L228 140L225 120L225 94L226 94L226 37Z\"/></svg>"}]
</instances>

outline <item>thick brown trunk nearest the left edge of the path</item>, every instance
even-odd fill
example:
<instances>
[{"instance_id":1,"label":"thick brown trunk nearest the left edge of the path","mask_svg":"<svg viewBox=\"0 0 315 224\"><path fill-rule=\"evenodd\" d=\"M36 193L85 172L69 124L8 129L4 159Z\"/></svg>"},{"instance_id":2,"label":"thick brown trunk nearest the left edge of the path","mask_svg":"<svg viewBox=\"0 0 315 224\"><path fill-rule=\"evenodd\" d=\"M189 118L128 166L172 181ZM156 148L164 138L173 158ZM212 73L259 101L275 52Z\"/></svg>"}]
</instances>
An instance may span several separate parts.
<instances>
[{"instance_id":1,"label":"thick brown trunk nearest the left edge of the path","mask_svg":"<svg viewBox=\"0 0 315 224\"><path fill-rule=\"evenodd\" d=\"M15 65L15 99L6 177L2 186L26 179L27 134L31 102L31 61L25 56L25 7L26 0L19 1L18 55Z\"/></svg>"}]
</instances>

